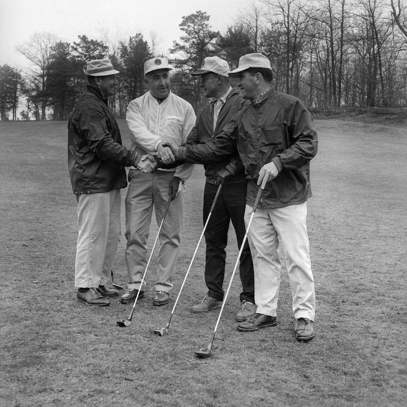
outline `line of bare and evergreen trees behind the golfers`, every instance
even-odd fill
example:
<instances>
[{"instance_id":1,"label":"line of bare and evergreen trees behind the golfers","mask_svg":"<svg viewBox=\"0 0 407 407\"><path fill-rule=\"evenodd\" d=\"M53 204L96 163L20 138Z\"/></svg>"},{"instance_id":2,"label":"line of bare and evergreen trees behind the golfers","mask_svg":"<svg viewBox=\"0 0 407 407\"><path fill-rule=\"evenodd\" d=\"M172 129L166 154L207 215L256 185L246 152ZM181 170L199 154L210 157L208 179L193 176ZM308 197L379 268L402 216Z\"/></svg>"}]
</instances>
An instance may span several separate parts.
<instances>
[{"instance_id":1,"label":"line of bare and evergreen trees behind the golfers","mask_svg":"<svg viewBox=\"0 0 407 407\"><path fill-rule=\"evenodd\" d=\"M203 101L190 73L219 55L231 69L239 57L262 52L272 61L276 89L309 107L407 106L407 6L391 0L259 0L240 12L224 33L197 11L180 23L184 35L169 50L172 90L195 109ZM145 92L143 62L157 44L140 33L119 44L78 36L73 44L35 34L18 50L33 70L0 66L1 120L67 120L83 91L86 61L108 55L121 74L111 106L122 118ZM17 111L23 103L23 109ZM20 102L20 103L19 103Z\"/></svg>"}]
</instances>

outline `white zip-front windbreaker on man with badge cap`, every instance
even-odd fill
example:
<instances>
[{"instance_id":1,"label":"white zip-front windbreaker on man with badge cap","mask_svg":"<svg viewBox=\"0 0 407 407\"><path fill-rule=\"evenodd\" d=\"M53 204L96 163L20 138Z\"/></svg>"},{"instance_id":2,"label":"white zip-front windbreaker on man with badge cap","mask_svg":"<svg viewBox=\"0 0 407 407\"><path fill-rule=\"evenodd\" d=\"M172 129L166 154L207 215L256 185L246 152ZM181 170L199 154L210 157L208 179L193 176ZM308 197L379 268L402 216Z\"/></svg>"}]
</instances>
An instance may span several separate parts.
<instances>
[{"instance_id":1,"label":"white zip-front windbreaker on man with badge cap","mask_svg":"<svg viewBox=\"0 0 407 407\"><path fill-rule=\"evenodd\" d=\"M143 155L155 153L160 142L176 147L186 142L195 125L195 112L190 103L172 92L161 103L147 92L129 103L126 121L137 153ZM192 170L193 164L183 164L167 171L175 171L174 176L185 181Z\"/></svg>"}]
</instances>

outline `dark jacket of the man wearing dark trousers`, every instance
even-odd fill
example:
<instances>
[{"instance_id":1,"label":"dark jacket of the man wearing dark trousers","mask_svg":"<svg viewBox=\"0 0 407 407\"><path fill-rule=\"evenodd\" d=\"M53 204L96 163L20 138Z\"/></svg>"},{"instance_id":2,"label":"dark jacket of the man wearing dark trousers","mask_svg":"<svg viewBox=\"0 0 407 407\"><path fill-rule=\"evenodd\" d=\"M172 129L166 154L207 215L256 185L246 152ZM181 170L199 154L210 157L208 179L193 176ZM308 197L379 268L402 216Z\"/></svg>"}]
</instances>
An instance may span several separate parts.
<instances>
[{"instance_id":1,"label":"dark jacket of the man wearing dark trousers","mask_svg":"<svg viewBox=\"0 0 407 407\"><path fill-rule=\"evenodd\" d=\"M230 121L236 123L236 117L238 111L243 107L246 101L242 98L239 91L232 89L226 99L225 104L220 109L218 119L216 121L215 129L213 128L213 103L208 103L198 113L196 124L188 136L187 144L196 146L192 154L187 154L187 161L194 163L203 163L205 168L205 176L207 182L214 183L216 179L216 172L224 168L230 161L238 157L237 152L222 157L219 162L208 162L211 159L212 152L208 155L206 146L202 149L199 148L199 144L206 143L215 134L219 133L224 126ZM240 159L239 159L240 161ZM234 162L236 162L234 160ZM245 181L245 171L243 165L239 165L239 169L236 174L225 180L225 184L237 183Z\"/></svg>"}]
</instances>

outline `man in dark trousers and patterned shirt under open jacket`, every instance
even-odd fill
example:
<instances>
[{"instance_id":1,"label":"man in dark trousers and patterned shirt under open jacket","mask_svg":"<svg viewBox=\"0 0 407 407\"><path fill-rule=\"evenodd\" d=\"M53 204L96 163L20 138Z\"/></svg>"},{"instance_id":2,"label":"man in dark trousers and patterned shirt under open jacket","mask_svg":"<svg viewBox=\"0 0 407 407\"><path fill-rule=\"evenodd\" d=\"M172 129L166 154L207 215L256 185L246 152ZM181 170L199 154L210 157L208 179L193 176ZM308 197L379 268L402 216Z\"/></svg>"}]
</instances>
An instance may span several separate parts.
<instances>
[{"instance_id":1,"label":"man in dark trousers and patterned shirt under open jacket","mask_svg":"<svg viewBox=\"0 0 407 407\"><path fill-rule=\"evenodd\" d=\"M218 56L205 58L200 70L192 75L200 76L200 87L210 102L199 112L195 127L188 136L187 144L196 145L210 140L231 120L245 101L240 92L229 84L229 65ZM235 228L240 249L244 235L244 212L246 205L246 179L240 159L236 153L223 157L222 161L208 163L205 153L195 162L203 162L206 183L203 193L203 223L205 224L212 202L222 182L222 188L205 230L206 264L205 282L208 294L200 304L194 305L191 312L206 312L219 308L223 301L223 280L225 274L225 248L230 221ZM255 313L254 272L250 247L246 242L240 258L240 279L243 290L240 294L240 307L236 314L238 322L246 321Z\"/></svg>"}]
</instances>

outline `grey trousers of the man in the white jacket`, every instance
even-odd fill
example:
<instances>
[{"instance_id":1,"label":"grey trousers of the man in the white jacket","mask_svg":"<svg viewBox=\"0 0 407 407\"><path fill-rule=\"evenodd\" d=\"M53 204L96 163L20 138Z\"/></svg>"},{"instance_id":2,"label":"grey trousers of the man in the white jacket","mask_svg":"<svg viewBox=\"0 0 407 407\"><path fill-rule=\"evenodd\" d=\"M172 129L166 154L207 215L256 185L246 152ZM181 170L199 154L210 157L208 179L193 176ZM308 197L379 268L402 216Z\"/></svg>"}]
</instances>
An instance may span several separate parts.
<instances>
[{"instance_id":1,"label":"grey trousers of the man in the white jacket","mask_svg":"<svg viewBox=\"0 0 407 407\"><path fill-rule=\"evenodd\" d=\"M140 289L142 275L150 256L147 240L153 208L157 224L161 223L168 201L168 186L174 173L170 171L153 171L143 174L138 170L129 171L129 185L126 195L126 264L129 274L129 288ZM182 225L183 192L178 192L168 208L164 219L159 241L157 257L157 280L154 290L171 292L172 277L180 247L180 231ZM155 236L154 236L155 239ZM153 266L150 264L150 268ZM147 272L148 273L148 272ZM146 286L144 280L143 288Z\"/></svg>"}]
</instances>

